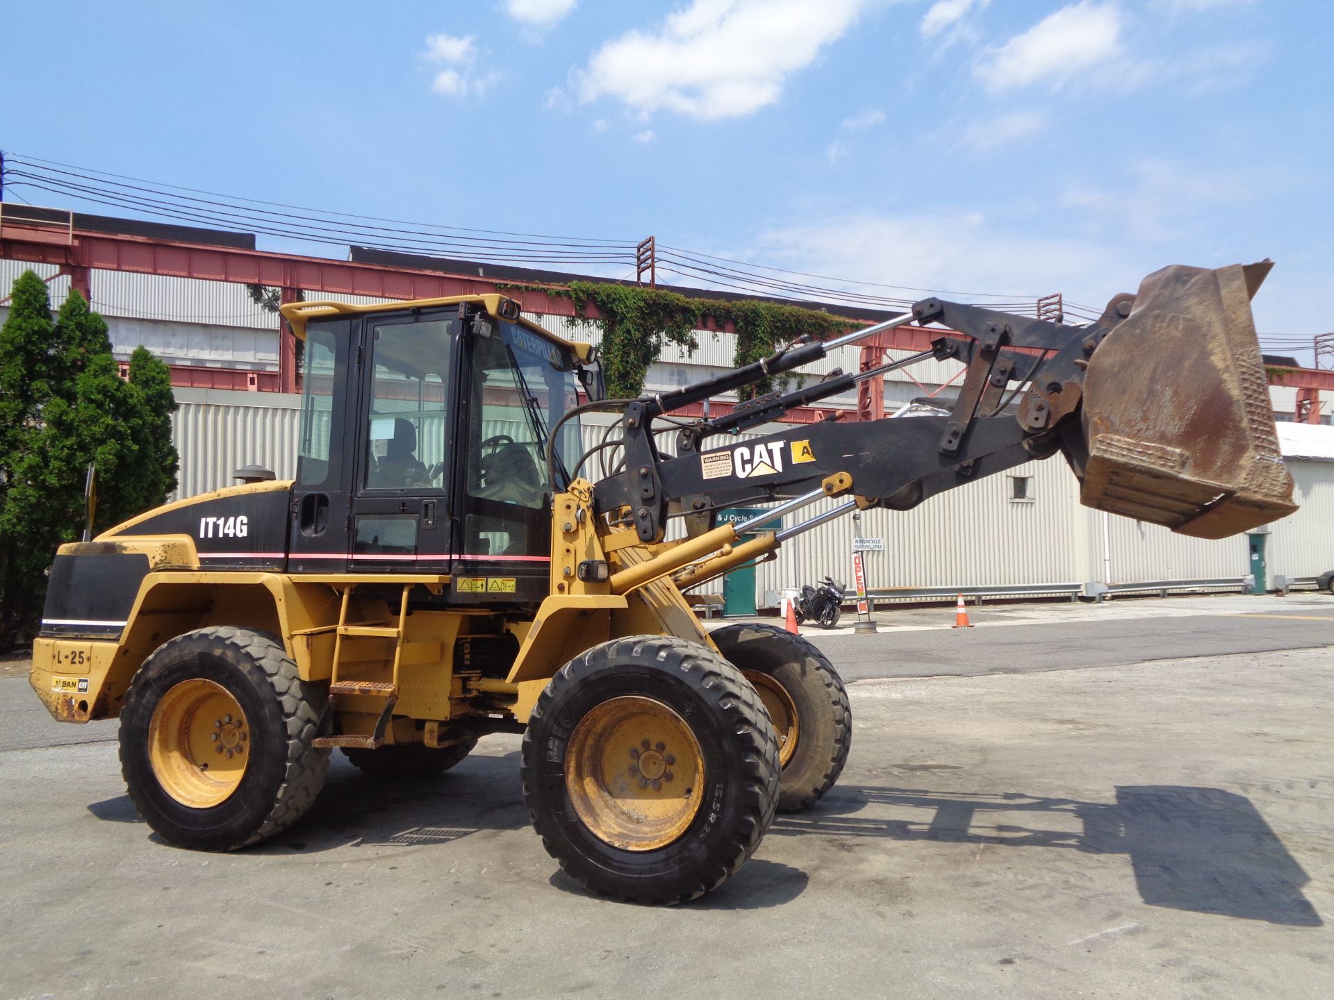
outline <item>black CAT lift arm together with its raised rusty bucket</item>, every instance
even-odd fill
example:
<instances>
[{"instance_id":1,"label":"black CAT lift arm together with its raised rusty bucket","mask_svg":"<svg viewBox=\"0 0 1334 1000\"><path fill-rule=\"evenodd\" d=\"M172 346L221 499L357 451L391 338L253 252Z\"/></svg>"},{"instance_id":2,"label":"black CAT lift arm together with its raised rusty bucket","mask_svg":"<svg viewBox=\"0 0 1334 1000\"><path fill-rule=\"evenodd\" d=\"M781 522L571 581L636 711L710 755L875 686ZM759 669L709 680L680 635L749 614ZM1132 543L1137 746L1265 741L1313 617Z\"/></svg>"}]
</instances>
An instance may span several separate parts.
<instances>
[{"instance_id":1,"label":"black CAT lift arm together with its raised rusty bucket","mask_svg":"<svg viewBox=\"0 0 1334 1000\"><path fill-rule=\"evenodd\" d=\"M1202 537L1263 524L1295 509L1249 305L1269 268L1267 261L1165 268L1145 279L1137 296L1115 296L1086 327L924 299L886 323L799 343L695 385L634 400L622 419L624 469L594 485L595 511L632 524L640 541L658 543L674 513L702 512L690 525L690 535L700 536L711 511L742 500L804 497L804 504L852 493L858 507L908 509L1061 451L1090 507ZM871 372L835 372L815 385L743 403L726 417L692 421L678 433L676 457L659 452L656 417L907 323L948 329L931 351ZM826 421L720 448L707 444L931 357L967 367L948 416ZM1097 407L1086 399L1090 372L1102 393Z\"/></svg>"}]
</instances>

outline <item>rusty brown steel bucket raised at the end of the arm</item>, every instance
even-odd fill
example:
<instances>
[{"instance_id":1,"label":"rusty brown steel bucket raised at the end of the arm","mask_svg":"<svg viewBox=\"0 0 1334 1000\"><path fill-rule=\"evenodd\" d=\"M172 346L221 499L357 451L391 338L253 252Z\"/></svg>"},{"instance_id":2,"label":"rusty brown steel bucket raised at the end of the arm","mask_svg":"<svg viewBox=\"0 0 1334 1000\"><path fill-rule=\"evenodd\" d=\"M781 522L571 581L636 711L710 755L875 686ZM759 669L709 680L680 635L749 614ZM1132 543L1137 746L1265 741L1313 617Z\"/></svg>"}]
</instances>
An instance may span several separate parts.
<instances>
[{"instance_id":1,"label":"rusty brown steel bucket raised at the end of the arm","mask_svg":"<svg viewBox=\"0 0 1334 1000\"><path fill-rule=\"evenodd\" d=\"M1143 280L1085 376L1087 507L1222 539L1297 509L1250 300L1273 267Z\"/></svg>"}]
</instances>

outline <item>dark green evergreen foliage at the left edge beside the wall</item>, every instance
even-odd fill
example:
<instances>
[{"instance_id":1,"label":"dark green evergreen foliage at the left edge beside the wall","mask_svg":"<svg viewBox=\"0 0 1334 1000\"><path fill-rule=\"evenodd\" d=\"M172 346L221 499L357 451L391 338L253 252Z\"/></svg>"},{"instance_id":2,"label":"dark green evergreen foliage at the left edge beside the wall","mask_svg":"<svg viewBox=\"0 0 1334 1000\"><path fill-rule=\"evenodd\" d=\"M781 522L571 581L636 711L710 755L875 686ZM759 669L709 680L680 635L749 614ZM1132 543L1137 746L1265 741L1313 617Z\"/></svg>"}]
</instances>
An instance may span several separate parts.
<instances>
[{"instance_id":1,"label":"dark green evergreen foliage at the left edge beside the wall","mask_svg":"<svg viewBox=\"0 0 1334 1000\"><path fill-rule=\"evenodd\" d=\"M0 648L33 631L56 548L80 537L84 481L97 468L96 529L165 500L179 461L171 443L171 372L147 348L129 381L107 323L72 291L52 323L47 287L15 283L0 331Z\"/></svg>"}]
</instances>

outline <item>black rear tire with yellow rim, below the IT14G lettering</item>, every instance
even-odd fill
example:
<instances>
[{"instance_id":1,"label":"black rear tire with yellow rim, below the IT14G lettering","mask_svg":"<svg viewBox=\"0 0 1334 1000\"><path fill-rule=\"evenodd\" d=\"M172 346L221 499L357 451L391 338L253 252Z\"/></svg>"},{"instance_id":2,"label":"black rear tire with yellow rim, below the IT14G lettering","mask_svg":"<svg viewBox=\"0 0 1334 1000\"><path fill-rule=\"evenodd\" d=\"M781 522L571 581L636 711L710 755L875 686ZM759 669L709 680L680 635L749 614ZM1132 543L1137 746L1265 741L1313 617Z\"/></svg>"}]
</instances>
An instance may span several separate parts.
<instances>
[{"instance_id":1,"label":"black rear tire with yellow rim, below the IT14G lettering","mask_svg":"<svg viewBox=\"0 0 1334 1000\"><path fill-rule=\"evenodd\" d=\"M139 813L177 847L233 851L293 824L324 785L312 747L324 693L277 639L200 628L160 645L120 713L120 768Z\"/></svg>"}]
</instances>

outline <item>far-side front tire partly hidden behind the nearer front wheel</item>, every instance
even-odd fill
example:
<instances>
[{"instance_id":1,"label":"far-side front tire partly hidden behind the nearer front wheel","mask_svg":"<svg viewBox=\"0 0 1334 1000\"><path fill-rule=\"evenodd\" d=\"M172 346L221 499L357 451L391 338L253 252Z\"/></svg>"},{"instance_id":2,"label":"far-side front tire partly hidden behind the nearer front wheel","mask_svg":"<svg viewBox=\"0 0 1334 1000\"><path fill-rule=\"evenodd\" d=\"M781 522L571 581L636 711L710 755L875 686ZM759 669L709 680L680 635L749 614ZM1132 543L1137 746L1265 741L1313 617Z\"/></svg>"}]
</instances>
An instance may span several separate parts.
<instances>
[{"instance_id":1,"label":"far-side front tire partly hidden behind the nearer front wheel","mask_svg":"<svg viewBox=\"0 0 1334 1000\"><path fill-rule=\"evenodd\" d=\"M852 748L852 709L838 671L810 640L774 625L723 625L708 637L774 717L783 760L778 808L808 809L838 781Z\"/></svg>"}]
</instances>

